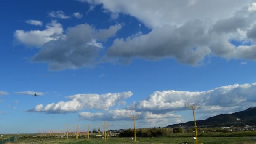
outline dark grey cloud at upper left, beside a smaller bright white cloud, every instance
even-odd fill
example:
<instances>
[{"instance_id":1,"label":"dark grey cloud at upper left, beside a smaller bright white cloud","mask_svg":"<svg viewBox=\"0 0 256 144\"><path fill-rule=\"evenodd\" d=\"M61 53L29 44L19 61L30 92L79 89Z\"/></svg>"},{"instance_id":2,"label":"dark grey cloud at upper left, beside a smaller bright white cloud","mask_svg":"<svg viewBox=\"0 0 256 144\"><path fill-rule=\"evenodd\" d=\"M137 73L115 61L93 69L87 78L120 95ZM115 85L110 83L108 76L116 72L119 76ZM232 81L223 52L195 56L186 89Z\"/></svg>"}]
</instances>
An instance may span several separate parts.
<instances>
[{"instance_id":1,"label":"dark grey cloud at upper left, beside a smaller bright white cloud","mask_svg":"<svg viewBox=\"0 0 256 144\"><path fill-rule=\"evenodd\" d=\"M95 29L89 24L80 24L67 29L58 40L45 43L32 61L48 62L50 70L92 67L99 59L102 41L121 29L120 24L109 29Z\"/></svg>"}]
</instances>

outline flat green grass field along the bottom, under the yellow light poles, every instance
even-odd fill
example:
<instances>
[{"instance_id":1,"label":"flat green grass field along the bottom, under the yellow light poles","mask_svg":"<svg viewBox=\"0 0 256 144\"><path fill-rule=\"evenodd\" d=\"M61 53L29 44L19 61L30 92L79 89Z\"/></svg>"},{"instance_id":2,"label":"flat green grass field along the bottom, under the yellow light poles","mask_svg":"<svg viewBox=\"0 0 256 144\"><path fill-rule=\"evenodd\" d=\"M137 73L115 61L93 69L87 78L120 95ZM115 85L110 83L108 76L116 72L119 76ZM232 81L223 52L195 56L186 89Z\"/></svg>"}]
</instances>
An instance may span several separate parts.
<instances>
[{"instance_id":1,"label":"flat green grass field along the bottom, under the yellow light poles","mask_svg":"<svg viewBox=\"0 0 256 144\"><path fill-rule=\"evenodd\" d=\"M16 144L127 144L134 143L131 138L109 138L104 139L91 138L75 138L60 137L21 137ZM194 144L194 140L189 137L176 138L137 138L136 143L140 144ZM198 144L256 144L256 137L202 137L198 138Z\"/></svg>"}]
</instances>

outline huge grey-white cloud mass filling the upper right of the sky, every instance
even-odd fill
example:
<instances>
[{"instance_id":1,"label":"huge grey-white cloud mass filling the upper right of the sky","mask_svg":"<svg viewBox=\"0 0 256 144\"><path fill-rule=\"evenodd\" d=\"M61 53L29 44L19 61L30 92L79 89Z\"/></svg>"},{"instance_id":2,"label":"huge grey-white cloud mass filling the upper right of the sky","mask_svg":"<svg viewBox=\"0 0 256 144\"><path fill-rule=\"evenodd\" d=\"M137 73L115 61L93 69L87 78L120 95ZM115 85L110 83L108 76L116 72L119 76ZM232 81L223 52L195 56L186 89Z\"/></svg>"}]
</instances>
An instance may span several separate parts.
<instances>
[{"instance_id":1,"label":"huge grey-white cloud mass filling the upper right of the sky","mask_svg":"<svg viewBox=\"0 0 256 144\"><path fill-rule=\"evenodd\" d=\"M208 55L225 59L256 59L255 45L237 47L230 42L232 39L255 40L252 25L256 22L256 11L255 3L251 4L250 0L235 3L232 0L161 1L165 4L154 0L80 1L102 5L111 15L125 13L134 16L152 29L147 34L116 38L103 58L105 61L174 58L184 64L200 65Z\"/></svg>"}]
</instances>

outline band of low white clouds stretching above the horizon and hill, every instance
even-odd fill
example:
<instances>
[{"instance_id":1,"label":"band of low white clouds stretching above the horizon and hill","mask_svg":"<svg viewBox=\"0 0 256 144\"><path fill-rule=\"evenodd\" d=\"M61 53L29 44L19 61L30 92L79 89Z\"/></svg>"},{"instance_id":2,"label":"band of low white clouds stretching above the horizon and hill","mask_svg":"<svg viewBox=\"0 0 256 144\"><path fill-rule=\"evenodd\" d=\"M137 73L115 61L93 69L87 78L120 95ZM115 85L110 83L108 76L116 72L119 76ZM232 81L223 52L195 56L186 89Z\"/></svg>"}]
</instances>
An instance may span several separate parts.
<instances>
[{"instance_id":1,"label":"band of low white clouds stretching above the horizon and hill","mask_svg":"<svg viewBox=\"0 0 256 144\"><path fill-rule=\"evenodd\" d=\"M128 116L138 115L147 123L181 123L184 118L179 112L188 110L185 104L200 104L197 113L208 117L256 107L256 83L235 84L214 88L208 91L155 91L141 101L134 101L123 109L110 109L126 103L132 92L107 94L76 94L68 96L70 101L38 104L28 112L70 113L79 112L79 120L118 121L129 120ZM88 110L90 112L88 112Z\"/></svg>"}]
</instances>

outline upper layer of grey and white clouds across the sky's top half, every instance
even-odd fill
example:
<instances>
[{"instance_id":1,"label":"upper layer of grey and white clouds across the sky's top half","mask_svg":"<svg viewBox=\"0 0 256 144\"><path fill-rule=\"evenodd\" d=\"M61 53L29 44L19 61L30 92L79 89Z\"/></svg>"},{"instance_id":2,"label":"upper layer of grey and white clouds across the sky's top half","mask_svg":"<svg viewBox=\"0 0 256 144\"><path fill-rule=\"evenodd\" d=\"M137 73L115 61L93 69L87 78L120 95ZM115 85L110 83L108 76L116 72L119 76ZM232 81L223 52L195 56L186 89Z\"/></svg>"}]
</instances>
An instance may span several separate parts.
<instances>
[{"instance_id":1,"label":"upper layer of grey and white clouds across the sky's top half","mask_svg":"<svg viewBox=\"0 0 256 144\"><path fill-rule=\"evenodd\" d=\"M100 62L129 62L134 58L153 61L171 58L193 66L203 64L205 57L212 55L227 60L256 60L256 3L251 0L77 1L89 3L91 8L101 5L111 19L118 19L120 13L134 16L151 31L115 37L107 51L101 51L107 39L121 29L120 24L108 29L80 24L69 27L63 34L61 24L52 21L42 31L16 30L17 41L41 48L32 61L46 62L49 69L61 70L93 67ZM71 18L63 11L51 11L49 16ZM83 15L75 12L72 16ZM27 22L40 24L34 20ZM248 43L234 45L232 41Z\"/></svg>"}]
</instances>

